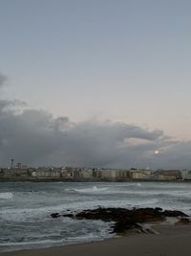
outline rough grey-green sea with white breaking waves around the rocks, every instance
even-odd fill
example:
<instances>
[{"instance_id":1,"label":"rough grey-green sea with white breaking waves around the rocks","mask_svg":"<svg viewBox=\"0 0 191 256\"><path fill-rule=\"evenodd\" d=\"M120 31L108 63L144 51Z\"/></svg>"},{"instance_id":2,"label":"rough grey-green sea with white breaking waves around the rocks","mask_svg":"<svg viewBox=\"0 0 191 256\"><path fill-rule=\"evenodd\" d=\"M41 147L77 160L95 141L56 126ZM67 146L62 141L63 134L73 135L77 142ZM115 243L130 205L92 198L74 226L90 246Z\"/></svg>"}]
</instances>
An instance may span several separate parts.
<instances>
[{"instance_id":1,"label":"rough grey-green sea with white breaking waves around the rocks","mask_svg":"<svg viewBox=\"0 0 191 256\"><path fill-rule=\"evenodd\" d=\"M111 223L51 217L97 206L161 207L191 215L191 183L0 183L0 252L110 238Z\"/></svg>"}]
</instances>

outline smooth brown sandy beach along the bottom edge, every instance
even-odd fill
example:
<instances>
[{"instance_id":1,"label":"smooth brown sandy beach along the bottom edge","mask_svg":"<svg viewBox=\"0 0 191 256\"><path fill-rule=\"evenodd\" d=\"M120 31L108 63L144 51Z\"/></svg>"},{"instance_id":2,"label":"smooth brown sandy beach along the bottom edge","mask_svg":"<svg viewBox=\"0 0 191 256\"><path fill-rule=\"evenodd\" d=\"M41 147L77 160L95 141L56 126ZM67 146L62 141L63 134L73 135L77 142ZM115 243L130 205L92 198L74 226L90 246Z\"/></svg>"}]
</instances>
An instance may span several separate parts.
<instances>
[{"instance_id":1,"label":"smooth brown sandy beach along the bottom edge","mask_svg":"<svg viewBox=\"0 0 191 256\"><path fill-rule=\"evenodd\" d=\"M155 226L159 235L132 234L90 244L74 244L43 249L2 252L1 256L190 256L191 226Z\"/></svg>"}]
</instances>

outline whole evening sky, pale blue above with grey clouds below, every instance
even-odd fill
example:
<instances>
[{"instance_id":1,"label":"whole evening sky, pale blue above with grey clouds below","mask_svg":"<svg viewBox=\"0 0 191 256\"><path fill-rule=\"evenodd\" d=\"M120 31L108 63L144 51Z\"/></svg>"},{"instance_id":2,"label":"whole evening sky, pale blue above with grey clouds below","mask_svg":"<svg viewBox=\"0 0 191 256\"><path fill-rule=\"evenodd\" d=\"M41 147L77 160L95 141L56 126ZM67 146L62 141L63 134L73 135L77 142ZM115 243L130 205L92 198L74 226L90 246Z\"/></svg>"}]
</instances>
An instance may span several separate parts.
<instances>
[{"instance_id":1,"label":"whole evening sky, pale blue above with grey clouds below","mask_svg":"<svg viewBox=\"0 0 191 256\"><path fill-rule=\"evenodd\" d=\"M191 168L190 10L0 0L0 166Z\"/></svg>"}]
</instances>

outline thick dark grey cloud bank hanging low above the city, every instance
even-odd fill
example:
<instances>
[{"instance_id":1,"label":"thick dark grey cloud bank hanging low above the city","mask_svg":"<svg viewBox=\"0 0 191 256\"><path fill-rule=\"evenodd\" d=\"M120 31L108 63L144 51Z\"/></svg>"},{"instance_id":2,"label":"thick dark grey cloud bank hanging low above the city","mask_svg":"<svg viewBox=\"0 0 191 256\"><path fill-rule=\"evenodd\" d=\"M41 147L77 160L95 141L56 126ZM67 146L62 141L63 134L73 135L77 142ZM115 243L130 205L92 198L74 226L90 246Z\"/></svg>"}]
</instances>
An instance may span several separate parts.
<instances>
[{"instance_id":1,"label":"thick dark grey cloud bank hanging low above the city","mask_svg":"<svg viewBox=\"0 0 191 256\"><path fill-rule=\"evenodd\" d=\"M0 74L0 87L6 77ZM46 111L0 99L0 166L10 159L36 165L112 168L190 168L191 142L173 141L161 130L118 122L73 123ZM155 151L159 150L156 154Z\"/></svg>"}]
</instances>

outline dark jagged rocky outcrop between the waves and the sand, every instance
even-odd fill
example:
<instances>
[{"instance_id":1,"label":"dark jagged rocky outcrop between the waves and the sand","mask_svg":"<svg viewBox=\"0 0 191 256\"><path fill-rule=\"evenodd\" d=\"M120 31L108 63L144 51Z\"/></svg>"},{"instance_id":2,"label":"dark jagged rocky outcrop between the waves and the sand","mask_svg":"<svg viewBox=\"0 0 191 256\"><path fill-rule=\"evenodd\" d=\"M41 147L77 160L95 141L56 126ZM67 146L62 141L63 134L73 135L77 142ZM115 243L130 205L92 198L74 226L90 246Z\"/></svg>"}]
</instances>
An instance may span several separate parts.
<instances>
[{"instance_id":1,"label":"dark jagged rocky outcrop between the waves and the sand","mask_svg":"<svg viewBox=\"0 0 191 256\"><path fill-rule=\"evenodd\" d=\"M57 218L58 213L52 214L53 218ZM180 211L163 211L161 208L103 208L88 209L76 214L67 213L63 217L70 217L78 220L101 220L114 221L112 233L124 233L127 230L137 229L140 232L146 233L142 223L165 221L166 217L187 217Z\"/></svg>"}]
</instances>

